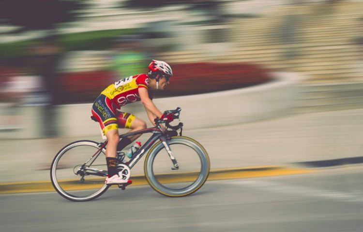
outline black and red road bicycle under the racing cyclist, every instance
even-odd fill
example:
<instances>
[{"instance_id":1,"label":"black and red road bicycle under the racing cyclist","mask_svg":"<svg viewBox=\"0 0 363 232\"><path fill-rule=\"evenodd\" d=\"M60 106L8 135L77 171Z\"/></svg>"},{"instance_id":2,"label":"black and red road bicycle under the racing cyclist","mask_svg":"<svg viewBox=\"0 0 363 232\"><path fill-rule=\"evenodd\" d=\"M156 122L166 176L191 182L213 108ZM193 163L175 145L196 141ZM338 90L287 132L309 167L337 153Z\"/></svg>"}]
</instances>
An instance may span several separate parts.
<instances>
[{"instance_id":1,"label":"black and red road bicycle under the racing cyclist","mask_svg":"<svg viewBox=\"0 0 363 232\"><path fill-rule=\"evenodd\" d=\"M172 114L174 120L179 119L180 112L178 107L164 114ZM164 123L165 131L161 127ZM202 145L182 136L183 123L177 126L169 123L156 118L155 127L121 134L120 139L144 133L151 133L151 137L128 162L120 160L117 168L119 175L128 179L131 169L148 151L144 174L151 188L169 197L187 196L201 188L207 180L210 160ZM51 164L50 179L62 197L71 201L90 201L106 192L110 187L105 184L106 146L107 140L100 143L80 140L64 146L57 153ZM118 187L124 190L130 183L119 184Z\"/></svg>"}]
</instances>

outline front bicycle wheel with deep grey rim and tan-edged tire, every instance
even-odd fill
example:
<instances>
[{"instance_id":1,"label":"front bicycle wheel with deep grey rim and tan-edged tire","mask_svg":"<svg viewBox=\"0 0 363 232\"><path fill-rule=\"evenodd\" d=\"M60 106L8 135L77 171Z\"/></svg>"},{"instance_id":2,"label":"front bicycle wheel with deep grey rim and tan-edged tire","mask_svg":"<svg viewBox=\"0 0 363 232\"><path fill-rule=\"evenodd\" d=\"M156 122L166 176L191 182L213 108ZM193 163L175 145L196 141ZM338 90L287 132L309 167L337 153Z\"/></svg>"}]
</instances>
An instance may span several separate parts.
<instances>
[{"instance_id":1,"label":"front bicycle wheel with deep grey rim and tan-edged tire","mask_svg":"<svg viewBox=\"0 0 363 232\"><path fill-rule=\"evenodd\" d=\"M210 160L206 150L197 141L175 136L168 141L173 156L179 164L173 164L163 145L156 143L145 158L144 172L155 191L169 197L182 197L197 191L208 178Z\"/></svg>"}]
</instances>

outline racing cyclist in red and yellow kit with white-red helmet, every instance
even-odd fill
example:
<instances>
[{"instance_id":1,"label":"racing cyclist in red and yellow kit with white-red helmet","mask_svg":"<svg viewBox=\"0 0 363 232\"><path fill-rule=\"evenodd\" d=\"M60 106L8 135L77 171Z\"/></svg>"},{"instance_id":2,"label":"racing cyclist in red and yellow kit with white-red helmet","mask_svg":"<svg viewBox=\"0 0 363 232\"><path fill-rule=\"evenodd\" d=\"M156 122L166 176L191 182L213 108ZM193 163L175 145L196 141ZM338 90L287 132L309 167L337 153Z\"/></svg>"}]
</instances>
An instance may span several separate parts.
<instances>
[{"instance_id":1,"label":"racing cyclist in red and yellow kit with white-red helmet","mask_svg":"<svg viewBox=\"0 0 363 232\"><path fill-rule=\"evenodd\" d=\"M172 120L172 115L163 115L152 102L153 90L164 90L173 75L170 66L160 60L152 60L148 74L137 74L121 79L103 90L92 105L92 115L100 123L106 135L106 162L108 175L106 184L122 184L128 180L118 175L116 151L121 151L135 141L140 135L124 137L119 141L119 128L139 131L146 129L146 122L136 116L121 112L121 106L141 101L152 125L156 117Z\"/></svg>"}]
</instances>

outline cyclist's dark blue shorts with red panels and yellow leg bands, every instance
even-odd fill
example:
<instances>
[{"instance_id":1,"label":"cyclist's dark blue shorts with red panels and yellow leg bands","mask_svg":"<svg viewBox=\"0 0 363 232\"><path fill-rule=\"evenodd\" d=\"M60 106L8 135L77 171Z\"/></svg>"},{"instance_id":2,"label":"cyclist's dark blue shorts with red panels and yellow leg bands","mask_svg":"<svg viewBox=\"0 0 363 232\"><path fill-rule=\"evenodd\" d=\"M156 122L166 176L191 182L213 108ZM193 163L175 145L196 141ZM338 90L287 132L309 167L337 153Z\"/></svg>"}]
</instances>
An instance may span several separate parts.
<instances>
[{"instance_id":1,"label":"cyclist's dark blue shorts with red panels and yellow leg bands","mask_svg":"<svg viewBox=\"0 0 363 232\"><path fill-rule=\"evenodd\" d=\"M101 94L92 105L92 115L100 123L102 132L106 133L113 129L131 128L135 116L129 113L118 111L118 105L112 102L105 95Z\"/></svg>"}]
</instances>

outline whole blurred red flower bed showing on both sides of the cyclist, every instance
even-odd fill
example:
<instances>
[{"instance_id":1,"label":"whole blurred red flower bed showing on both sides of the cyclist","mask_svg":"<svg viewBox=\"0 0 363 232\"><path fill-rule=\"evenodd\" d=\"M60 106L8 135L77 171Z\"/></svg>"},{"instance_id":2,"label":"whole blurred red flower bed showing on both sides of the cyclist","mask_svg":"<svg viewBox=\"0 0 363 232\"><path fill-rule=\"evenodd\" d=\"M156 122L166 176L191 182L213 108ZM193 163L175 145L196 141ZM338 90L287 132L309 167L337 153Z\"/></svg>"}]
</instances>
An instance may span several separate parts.
<instances>
[{"instance_id":1,"label":"whole blurred red flower bed showing on both sides of the cyclist","mask_svg":"<svg viewBox=\"0 0 363 232\"><path fill-rule=\"evenodd\" d=\"M253 86L271 80L267 70L246 63L171 64L174 76L155 97L182 96ZM136 73L135 73L136 74ZM115 78L110 71L67 73L60 77L59 103L93 102Z\"/></svg>"}]
</instances>

